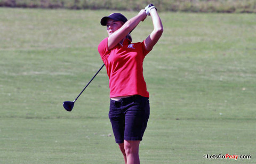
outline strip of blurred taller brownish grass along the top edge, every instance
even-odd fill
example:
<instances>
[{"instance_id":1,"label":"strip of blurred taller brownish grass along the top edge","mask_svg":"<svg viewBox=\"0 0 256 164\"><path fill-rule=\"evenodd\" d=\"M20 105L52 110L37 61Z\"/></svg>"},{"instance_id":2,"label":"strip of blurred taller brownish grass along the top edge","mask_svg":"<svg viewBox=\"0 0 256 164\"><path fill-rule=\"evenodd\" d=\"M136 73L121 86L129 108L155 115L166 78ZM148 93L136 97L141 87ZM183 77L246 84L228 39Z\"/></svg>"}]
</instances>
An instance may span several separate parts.
<instances>
[{"instance_id":1,"label":"strip of blurred taller brownish grass along the top edge","mask_svg":"<svg viewBox=\"0 0 256 164\"><path fill-rule=\"evenodd\" d=\"M137 11L145 8L145 4L153 3L159 11L181 12L256 12L255 0L0 0L0 6L35 7L35 8L65 8L65 9L109 9Z\"/></svg>"}]
</instances>

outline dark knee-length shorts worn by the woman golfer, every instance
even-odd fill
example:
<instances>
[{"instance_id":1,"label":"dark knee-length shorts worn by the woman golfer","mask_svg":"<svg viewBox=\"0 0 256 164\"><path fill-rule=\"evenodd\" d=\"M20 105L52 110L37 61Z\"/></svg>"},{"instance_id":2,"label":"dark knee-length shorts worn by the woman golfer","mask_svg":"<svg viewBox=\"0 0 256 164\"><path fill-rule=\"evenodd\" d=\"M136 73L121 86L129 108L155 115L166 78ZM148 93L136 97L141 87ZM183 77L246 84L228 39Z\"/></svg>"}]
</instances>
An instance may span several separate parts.
<instances>
[{"instance_id":1,"label":"dark knee-length shorts worn by the woman golfer","mask_svg":"<svg viewBox=\"0 0 256 164\"><path fill-rule=\"evenodd\" d=\"M110 100L109 119L116 143L141 141L149 111L148 97L134 95L119 101Z\"/></svg>"}]
</instances>

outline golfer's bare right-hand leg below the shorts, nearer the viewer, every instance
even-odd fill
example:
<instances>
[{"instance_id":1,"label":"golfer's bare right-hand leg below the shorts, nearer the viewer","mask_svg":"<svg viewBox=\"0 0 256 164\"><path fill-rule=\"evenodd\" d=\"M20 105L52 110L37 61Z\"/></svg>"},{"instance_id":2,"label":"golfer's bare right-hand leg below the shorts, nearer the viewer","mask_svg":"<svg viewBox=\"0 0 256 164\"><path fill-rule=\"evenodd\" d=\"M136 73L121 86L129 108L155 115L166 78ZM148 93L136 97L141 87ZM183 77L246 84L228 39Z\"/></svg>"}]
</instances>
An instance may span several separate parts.
<instances>
[{"instance_id":1,"label":"golfer's bare right-hand leg below the shorts, nearer the viewer","mask_svg":"<svg viewBox=\"0 0 256 164\"><path fill-rule=\"evenodd\" d=\"M127 164L139 164L139 145L140 141L124 140L124 150L126 154Z\"/></svg>"}]
</instances>

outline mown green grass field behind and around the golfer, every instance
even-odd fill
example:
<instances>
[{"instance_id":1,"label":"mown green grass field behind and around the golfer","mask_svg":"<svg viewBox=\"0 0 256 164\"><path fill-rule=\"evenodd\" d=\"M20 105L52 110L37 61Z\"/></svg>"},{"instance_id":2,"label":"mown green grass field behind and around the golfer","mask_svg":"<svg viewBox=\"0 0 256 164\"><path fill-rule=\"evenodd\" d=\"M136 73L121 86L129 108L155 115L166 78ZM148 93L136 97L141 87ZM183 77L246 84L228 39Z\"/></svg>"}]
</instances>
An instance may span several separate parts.
<instances>
[{"instance_id":1,"label":"mown green grass field behind and around the golfer","mask_svg":"<svg viewBox=\"0 0 256 164\"><path fill-rule=\"evenodd\" d=\"M72 112L62 107L102 65L99 21L111 12L0 8L0 163L123 163L105 68ZM160 16L164 34L144 63L151 113L141 163L256 163L255 14ZM133 42L151 30L148 18Z\"/></svg>"}]
</instances>

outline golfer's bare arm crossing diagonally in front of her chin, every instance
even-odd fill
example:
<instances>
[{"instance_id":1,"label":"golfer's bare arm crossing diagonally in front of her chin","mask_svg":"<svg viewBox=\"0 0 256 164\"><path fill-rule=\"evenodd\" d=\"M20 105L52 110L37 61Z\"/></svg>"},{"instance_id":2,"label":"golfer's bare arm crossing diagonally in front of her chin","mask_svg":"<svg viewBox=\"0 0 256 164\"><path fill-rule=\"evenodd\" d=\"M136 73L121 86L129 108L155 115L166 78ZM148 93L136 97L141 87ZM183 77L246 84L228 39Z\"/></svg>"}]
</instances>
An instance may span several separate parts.
<instances>
[{"instance_id":1,"label":"golfer's bare arm crossing diagonally in front of her chin","mask_svg":"<svg viewBox=\"0 0 256 164\"><path fill-rule=\"evenodd\" d=\"M146 11L141 10L138 15L125 22L121 28L110 35L108 37L108 50L115 47L122 39L125 38L127 34L129 34L131 30L133 30L140 23L140 21L145 20L146 17Z\"/></svg>"}]
</instances>

